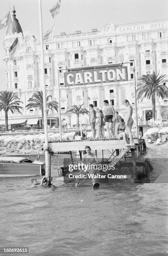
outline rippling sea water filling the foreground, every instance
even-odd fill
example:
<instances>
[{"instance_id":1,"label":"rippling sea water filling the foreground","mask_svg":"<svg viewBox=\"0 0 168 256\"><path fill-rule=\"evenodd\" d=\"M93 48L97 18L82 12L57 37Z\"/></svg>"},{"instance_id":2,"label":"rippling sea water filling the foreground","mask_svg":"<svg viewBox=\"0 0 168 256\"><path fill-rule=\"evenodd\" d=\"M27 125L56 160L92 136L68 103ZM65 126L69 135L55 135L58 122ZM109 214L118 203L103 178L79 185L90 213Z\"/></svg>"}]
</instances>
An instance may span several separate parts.
<instances>
[{"instance_id":1,"label":"rippling sea water filling the foreground","mask_svg":"<svg viewBox=\"0 0 168 256\"><path fill-rule=\"evenodd\" d=\"M153 182L167 169L167 147L146 156L154 159ZM168 255L167 184L30 185L30 177L0 179L1 248L29 247L32 256Z\"/></svg>"}]
</instances>

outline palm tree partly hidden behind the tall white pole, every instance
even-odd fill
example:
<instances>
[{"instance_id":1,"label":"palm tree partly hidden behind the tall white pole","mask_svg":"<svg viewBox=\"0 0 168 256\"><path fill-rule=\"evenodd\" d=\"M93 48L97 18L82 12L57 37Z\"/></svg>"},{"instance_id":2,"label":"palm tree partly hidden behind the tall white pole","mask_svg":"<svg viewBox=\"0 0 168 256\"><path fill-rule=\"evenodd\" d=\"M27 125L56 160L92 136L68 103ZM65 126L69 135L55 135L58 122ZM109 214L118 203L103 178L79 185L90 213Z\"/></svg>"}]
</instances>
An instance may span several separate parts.
<instances>
[{"instance_id":1,"label":"palm tree partly hidden behind the tall white pole","mask_svg":"<svg viewBox=\"0 0 168 256\"><path fill-rule=\"evenodd\" d=\"M47 115L49 110L55 109L58 112L58 102L57 101L49 101L49 97L52 97L51 95L48 95L46 97L47 102ZM27 109L30 108L39 108L42 111L42 120L44 118L44 111L43 111L43 93L42 91L33 93L32 97L28 100L28 103L26 105ZM42 128L44 128L44 124L42 124Z\"/></svg>"}]
</instances>

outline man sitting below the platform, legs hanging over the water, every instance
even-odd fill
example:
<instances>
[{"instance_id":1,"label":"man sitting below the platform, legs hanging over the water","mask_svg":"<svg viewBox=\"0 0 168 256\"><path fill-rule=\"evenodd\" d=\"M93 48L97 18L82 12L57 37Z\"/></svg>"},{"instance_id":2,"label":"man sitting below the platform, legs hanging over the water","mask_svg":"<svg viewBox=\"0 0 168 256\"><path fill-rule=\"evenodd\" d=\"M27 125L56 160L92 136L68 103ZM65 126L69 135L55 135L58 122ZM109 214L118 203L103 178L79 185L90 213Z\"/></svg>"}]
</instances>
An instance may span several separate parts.
<instances>
[{"instance_id":1,"label":"man sitting below the platform, legs hanging over the water","mask_svg":"<svg viewBox=\"0 0 168 256\"><path fill-rule=\"evenodd\" d=\"M85 146L85 151L86 154L83 156L82 158L82 164L85 164L87 166L87 169L82 169L80 170L79 174L94 174L95 170L94 170L94 165L95 164L100 164L99 159L97 158L97 156L93 153L91 153L91 148L89 146ZM92 183L93 185L95 184L95 179L92 178ZM76 187L79 184L79 178L76 179Z\"/></svg>"}]
</instances>

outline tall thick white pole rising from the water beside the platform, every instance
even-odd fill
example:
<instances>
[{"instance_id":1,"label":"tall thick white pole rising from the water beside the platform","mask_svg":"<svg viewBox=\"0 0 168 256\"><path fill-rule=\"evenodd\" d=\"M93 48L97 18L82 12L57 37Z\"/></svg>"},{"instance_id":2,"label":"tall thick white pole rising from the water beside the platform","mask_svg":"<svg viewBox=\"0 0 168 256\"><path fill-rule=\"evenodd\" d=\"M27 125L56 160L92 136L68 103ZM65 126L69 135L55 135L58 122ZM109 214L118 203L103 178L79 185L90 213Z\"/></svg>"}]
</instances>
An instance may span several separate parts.
<instances>
[{"instance_id":1,"label":"tall thick white pole rising from the water beside the platform","mask_svg":"<svg viewBox=\"0 0 168 256\"><path fill-rule=\"evenodd\" d=\"M48 143L48 127L47 127L47 101L46 101L46 91L45 91L45 74L44 74L44 49L43 49L43 33L42 33L42 3L39 0L39 21L40 21L40 52L41 52L41 77L42 77L42 88L43 88L43 112L44 112L44 136L45 136L45 172L46 177L51 176L51 168L49 161L49 143Z\"/></svg>"}]
</instances>

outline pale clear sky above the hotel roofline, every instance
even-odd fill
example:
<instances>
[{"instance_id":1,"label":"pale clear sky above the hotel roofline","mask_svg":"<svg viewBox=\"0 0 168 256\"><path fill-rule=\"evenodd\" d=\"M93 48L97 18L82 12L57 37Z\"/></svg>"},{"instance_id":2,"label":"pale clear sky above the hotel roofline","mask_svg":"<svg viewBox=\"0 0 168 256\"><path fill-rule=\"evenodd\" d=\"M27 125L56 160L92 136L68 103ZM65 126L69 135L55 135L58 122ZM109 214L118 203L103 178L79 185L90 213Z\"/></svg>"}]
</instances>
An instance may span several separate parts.
<instances>
[{"instance_id":1,"label":"pale clear sky above the hotel roofline","mask_svg":"<svg viewBox=\"0 0 168 256\"><path fill-rule=\"evenodd\" d=\"M57 0L42 0L43 32L54 24L49 9ZM38 0L0 0L0 19L15 5L16 17L24 36L39 38ZM114 25L168 19L168 0L61 0L54 35L60 32L101 30L106 23ZM7 27L0 30L0 90L6 89L3 40Z\"/></svg>"}]
</instances>

